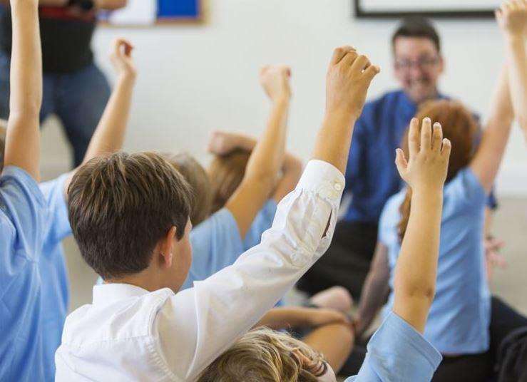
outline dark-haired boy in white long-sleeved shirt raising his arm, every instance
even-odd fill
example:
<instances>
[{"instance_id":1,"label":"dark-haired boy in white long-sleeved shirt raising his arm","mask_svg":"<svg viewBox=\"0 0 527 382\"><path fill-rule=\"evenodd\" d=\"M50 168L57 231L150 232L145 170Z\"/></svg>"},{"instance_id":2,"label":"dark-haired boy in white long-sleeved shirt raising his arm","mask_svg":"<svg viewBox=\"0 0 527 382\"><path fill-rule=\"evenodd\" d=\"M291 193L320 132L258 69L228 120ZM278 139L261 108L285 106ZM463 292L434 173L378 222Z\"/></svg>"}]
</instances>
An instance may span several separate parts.
<instances>
[{"instance_id":1,"label":"dark-haired boy in white long-sleeved shirt raising his arm","mask_svg":"<svg viewBox=\"0 0 527 382\"><path fill-rule=\"evenodd\" d=\"M194 381L254 326L329 246L353 125L378 72L350 47L334 51L326 116L297 187L260 244L190 289L179 291L192 262L192 197L182 175L153 153L83 165L68 189L69 217L83 258L105 284L66 319L56 380ZM277 76L272 88L284 81Z\"/></svg>"}]
</instances>

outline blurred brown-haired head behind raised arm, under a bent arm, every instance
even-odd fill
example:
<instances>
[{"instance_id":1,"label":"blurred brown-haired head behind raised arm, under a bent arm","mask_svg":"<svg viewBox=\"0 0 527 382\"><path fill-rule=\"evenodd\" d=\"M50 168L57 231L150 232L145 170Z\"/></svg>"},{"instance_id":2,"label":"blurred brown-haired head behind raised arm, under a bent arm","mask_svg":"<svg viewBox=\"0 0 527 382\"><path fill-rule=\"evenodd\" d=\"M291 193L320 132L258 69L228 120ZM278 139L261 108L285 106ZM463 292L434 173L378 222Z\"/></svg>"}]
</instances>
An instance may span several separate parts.
<instances>
[{"instance_id":1,"label":"blurred brown-haired head behind raised arm, under a bent arm","mask_svg":"<svg viewBox=\"0 0 527 382\"><path fill-rule=\"evenodd\" d=\"M242 182L250 155L245 150L234 150L227 155L216 155L210 163L208 173L213 192L213 212L225 206Z\"/></svg>"}]
</instances>

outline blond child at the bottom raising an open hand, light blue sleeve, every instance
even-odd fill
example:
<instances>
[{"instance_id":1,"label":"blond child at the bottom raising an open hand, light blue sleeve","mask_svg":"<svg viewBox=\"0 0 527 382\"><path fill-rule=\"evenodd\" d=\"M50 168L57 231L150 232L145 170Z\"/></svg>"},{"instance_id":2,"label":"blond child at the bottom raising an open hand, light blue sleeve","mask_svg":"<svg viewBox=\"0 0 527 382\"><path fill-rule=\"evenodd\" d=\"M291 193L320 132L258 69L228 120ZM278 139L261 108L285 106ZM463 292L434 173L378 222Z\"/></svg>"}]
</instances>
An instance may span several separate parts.
<instances>
[{"instance_id":1,"label":"blond child at the bottom raising an open hand, light blue sleeve","mask_svg":"<svg viewBox=\"0 0 527 382\"><path fill-rule=\"evenodd\" d=\"M421 138L419 138L419 135ZM414 190L408 228L395 275L392 311L368 344L358 376L347 381L430 381L441 355L421 336L434 299L442 187L451 145L442 140L441 126L411 121L409 160L398 150L396 165ZM416 272L419 269L419 272ZM198 382L335 382L321 354L302 342L266 329L256 329L208 366Z\"/></svg>"}]
</instances>

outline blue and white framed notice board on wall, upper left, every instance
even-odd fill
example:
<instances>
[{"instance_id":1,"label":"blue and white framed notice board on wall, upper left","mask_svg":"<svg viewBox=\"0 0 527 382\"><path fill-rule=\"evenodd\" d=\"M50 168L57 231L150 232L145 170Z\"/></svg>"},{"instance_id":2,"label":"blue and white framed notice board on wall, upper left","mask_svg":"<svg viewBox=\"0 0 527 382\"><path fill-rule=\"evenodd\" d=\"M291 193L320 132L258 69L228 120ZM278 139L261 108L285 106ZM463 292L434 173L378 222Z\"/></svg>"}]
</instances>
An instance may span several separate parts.
<instances>
[{"instance_id":1,"label":"blue and white framed notice board on wall, upper left","mask_svg":"<svg viewBox=\"0 0 527 382\"><path fill-rule=\"evenodd\" d=\"M128 0L125 8L101 14L101 20L115 26L199 22L201 0Z\"/></svg>"}]
</instances>

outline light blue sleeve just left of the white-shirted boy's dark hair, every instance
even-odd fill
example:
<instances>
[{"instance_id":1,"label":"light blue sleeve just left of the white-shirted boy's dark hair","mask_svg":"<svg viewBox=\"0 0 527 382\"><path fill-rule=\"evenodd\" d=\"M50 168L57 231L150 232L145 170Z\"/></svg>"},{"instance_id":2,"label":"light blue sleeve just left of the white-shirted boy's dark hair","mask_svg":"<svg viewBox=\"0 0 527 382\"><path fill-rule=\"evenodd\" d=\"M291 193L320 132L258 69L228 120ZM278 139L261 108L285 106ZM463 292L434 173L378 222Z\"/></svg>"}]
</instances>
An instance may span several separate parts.
<instances>
[{"instance_id":1,"label":"light blue sleeve just left of the white-shirted boy's dark hair","mask_svg":"<svg viewBox=\"0 0 527 382\"><path fill-rule=\"evenodd\" d=\"M48 224L46 237L48 244L61 242L65 237L71 235L71 226L68 219L68 205L64 183L68 180L69 173L63 174L49 182L42 182L39 187L46 200L48 207Z\"/></svg>"}]
</instances>

